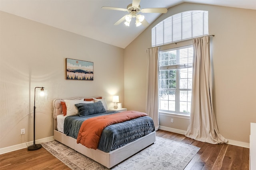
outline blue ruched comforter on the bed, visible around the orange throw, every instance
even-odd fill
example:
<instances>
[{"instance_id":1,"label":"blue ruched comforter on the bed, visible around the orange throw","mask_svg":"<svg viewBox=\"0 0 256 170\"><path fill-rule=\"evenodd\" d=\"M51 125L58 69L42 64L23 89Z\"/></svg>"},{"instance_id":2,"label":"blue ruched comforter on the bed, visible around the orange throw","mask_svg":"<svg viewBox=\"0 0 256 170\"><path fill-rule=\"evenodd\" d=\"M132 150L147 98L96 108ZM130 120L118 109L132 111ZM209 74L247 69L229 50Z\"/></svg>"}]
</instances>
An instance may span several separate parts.
<instances>
[{"instance_id":1,"label":"blue ruched comforter on the bed, visible around the orange throw","mask_svg":"<svg viewBox=\"0 0 256 170\"><path fill-rule=\"evenodd\" d=\"M68 116L64 121L64 133L77 139L79 129L86 119L91 117L118 113L117 111L106 111L80 117L79 115ZM123 123L117 123L106 127L101 135L98 149L104 152L118 149L127 143L148 135L154 131L154 123L151 117L144 116Z\"/></svg>"}]
</instances>

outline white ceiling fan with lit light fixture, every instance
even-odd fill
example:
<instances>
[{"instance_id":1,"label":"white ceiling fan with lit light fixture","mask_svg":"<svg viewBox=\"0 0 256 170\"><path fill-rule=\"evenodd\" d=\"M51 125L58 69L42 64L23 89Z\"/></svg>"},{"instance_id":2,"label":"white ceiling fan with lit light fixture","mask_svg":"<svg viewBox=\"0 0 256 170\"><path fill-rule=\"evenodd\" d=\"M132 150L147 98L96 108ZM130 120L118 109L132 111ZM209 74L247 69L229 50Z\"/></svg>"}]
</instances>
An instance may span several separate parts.
<instances>
[{"instance_id":1,"label":"white ceiling fan with lit light fixture","mask_svg":"<svg viewBox=\"0 0 256 170\"><path fill-rule=\"evenodd\" d=\"M114 25L119 25L124 20L126 20L124 24L127 26L130 26L130 22L131 22L132 18L136 18L135 24L137 27L140 25L147 27L149 25L148 21L146 21L144 19L145 17L141 14L138 14L139 12L142 12L142 13L166 13L167 12L167 8L144 8L144 9L141 9L140 8L140 0L132 0L132 4L129 4L126 9L110 7L110 6L102 6L102 9L129 12L130 14L126 14L125 16L123 16L120 20L116 21L116 23L114 23Z\"/></svg>"}]
</instances>

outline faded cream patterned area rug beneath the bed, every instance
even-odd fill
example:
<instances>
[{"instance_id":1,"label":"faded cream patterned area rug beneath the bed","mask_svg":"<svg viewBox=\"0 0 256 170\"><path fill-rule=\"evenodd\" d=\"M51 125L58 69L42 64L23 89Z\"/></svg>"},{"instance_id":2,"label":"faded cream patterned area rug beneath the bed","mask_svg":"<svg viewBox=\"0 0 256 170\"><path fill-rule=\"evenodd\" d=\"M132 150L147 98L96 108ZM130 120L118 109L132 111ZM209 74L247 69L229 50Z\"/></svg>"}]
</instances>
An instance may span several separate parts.
<instances>
[{"instance_id":1,"label":"faded cream patterned area rug beneath the bed","mask_svg":"<svg viewBox=\"0 0 256 170\"><path fill-rule=\"evenodd\" d=\"M44 149L72 170L108 170L105 166L59 143L42 143ZM200 148L156 137L149 147L120 162L112 170L183 170Z\"/></svg>"}]
</instances>

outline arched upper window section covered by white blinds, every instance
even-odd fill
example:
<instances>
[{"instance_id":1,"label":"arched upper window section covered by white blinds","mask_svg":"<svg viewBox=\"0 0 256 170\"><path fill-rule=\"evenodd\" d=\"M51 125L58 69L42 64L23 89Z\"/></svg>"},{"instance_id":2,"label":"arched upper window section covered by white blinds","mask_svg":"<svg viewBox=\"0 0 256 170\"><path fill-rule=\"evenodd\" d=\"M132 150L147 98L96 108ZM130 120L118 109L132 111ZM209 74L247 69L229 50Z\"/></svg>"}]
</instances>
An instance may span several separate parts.
<instances>
[{"instance_id":1,"label":"arched upper window section covered by white blinds","mask_svg":"<svg viewBox=\"0 0 256 170\"><path fill-rule=\"evenodd\" d=\"M152 47L208 35L208 11L186 11L152 28Z\"/></svg>"}]
</instances>

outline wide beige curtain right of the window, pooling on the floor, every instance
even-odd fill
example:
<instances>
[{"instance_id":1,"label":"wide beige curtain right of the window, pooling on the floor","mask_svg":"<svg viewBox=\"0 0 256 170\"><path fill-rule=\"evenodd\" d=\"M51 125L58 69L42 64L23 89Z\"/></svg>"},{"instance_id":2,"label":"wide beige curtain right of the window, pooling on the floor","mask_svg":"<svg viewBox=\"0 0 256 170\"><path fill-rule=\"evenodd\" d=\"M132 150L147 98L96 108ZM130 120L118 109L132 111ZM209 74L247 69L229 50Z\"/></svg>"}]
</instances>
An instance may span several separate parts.
<instances>
[{"instance_id":1,"label":"wide beige curtain right of the window, pooling on the floor","mask_svg":"<svg viewBox=\"0 0 256 170\"><path fill-rule=\"evenodd\" d=\"M206 143L226 143L227 139L218 131L213 110L210 37L194 39L193 48L192 103L185 136Z\"/></svg>"}]
</instances>

